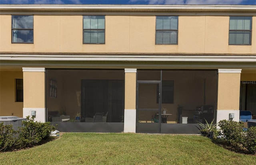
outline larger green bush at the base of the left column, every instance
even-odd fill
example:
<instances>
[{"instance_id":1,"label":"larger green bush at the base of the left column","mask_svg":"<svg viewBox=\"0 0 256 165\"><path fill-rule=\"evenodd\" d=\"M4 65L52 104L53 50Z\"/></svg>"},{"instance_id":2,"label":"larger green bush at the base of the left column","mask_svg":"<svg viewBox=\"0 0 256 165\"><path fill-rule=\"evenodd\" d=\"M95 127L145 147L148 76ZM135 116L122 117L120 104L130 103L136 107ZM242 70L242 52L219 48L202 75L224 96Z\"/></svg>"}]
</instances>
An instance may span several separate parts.
<instances>
[{"instance_id":1,"label":"larger green bush at the base of the left column","mask_svg":"<svg viewBox=\"0 0 256 165\"><path fill-rule=\"evenodd\" d=\"M50 122L41 123L35 122L34 117L27 116L27 121L22 121L22 126L19 129L18 147L32 147L50 136L50 133L55 130L55 127L50 125Z\"/></svg>"}]
</instances>

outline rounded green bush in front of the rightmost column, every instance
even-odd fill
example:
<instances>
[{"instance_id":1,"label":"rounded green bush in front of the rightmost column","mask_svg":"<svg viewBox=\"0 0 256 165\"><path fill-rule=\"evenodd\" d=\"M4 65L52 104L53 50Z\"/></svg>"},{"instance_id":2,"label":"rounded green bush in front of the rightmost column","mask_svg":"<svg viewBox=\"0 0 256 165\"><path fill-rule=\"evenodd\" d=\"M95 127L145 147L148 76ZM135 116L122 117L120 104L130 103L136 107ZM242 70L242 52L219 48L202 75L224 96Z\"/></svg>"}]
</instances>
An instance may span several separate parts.
<instances>
[{"instance_id":1,"label":"rounded green bush in front of the rightmost column","mask_svg":"<svg viewBox=\"0 0 256 165\"><path fill-rule=\"evenodd\" d=\"M221 129L220 135L223 136L230 145L240 147L240 144L244 143L243 122L221 120L218 125Z\"/></svg>"}]
</instances>

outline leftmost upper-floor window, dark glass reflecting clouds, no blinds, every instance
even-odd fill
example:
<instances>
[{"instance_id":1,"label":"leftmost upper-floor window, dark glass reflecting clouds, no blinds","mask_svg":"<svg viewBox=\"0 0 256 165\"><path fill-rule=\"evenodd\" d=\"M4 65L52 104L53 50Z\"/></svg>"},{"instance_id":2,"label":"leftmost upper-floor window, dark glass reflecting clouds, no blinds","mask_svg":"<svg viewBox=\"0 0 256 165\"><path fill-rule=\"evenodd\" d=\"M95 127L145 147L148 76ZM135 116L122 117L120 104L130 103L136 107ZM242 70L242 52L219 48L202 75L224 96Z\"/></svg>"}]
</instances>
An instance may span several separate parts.
<instances>
[{"instance_id":1,"label":"leftmost upper-floor window, dark glass reflecting clouds, no blinds","mask_svg":"<svg viewBox=\"0 0 256 165\"><path fill-rule=\"evenodd\" d=\"M33 16L12 16L12 43L33 43Z\"/></svg>"}]
</instances>

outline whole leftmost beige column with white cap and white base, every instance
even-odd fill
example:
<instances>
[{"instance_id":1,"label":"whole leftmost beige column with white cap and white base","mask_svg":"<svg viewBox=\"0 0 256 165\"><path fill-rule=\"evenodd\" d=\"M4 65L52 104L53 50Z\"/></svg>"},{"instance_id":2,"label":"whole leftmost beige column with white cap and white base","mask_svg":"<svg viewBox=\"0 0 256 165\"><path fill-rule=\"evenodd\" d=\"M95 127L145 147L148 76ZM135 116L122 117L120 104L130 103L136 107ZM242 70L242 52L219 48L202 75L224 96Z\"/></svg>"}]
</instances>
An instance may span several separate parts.
<instances>
[{"instance_id":1,"label":"whole leftmost beige column with white cap and white base","mask_svg":"<svg viewBox=\"0 0 256 165\"><path fill-rule=\"evenodd\" d=\"M45 68L22 68L23 71L23 117L32 116L46 122Z\"/></svg>"}]
</instances>

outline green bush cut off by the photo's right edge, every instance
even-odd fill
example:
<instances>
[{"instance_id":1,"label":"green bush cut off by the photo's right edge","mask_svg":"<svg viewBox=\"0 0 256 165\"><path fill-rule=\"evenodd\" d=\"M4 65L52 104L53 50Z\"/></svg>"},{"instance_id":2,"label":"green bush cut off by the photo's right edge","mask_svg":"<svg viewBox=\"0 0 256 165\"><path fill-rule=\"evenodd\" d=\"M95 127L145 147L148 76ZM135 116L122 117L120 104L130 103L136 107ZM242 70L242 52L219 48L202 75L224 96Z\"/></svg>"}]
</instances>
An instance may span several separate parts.
<instances>
[{"instance_id":1,"label":"green bush cut off by the photo's right edge","mask_svg":"<svg viewBox=\"0 0 256 165\"><path fill-rule=\"evenodd\" d=\"M246 147L250 153L256 153L256 126L248 128L244 138L244 147Z\"/></svg>"}]
</instances>

